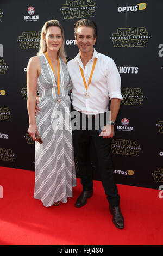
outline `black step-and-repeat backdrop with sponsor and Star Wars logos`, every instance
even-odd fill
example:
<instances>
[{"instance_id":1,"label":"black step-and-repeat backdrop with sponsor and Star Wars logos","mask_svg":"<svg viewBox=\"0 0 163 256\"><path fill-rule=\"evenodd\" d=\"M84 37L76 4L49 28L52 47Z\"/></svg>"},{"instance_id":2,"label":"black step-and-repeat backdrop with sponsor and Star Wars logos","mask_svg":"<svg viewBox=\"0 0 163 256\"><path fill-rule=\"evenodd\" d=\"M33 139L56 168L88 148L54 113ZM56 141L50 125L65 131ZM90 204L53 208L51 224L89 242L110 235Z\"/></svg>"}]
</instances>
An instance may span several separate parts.
<instances>
[{"instance_id":1,"label":"black step-and-repeat backdrop with sponsor and Star Wars logos","mask_svg":"<svg viewBox=\"0 0 163 256\"><path fill-rule=\"evenodd\" d=\"M87 18L97 23L96 50L114 59L122 81L111 141L116 182L155 189L163 185L162 9L161 0L1 0L0 166L34 170L26 72L29 58L39 50L43 24L61 22L70 60L78 53L73 25ZM99 180L94 154L92 169ZM80 177L77 161L76 171Z\"/></svg>"}]
</instances>

